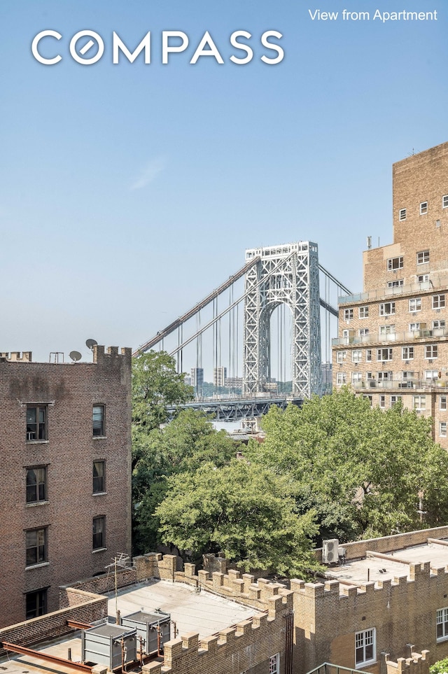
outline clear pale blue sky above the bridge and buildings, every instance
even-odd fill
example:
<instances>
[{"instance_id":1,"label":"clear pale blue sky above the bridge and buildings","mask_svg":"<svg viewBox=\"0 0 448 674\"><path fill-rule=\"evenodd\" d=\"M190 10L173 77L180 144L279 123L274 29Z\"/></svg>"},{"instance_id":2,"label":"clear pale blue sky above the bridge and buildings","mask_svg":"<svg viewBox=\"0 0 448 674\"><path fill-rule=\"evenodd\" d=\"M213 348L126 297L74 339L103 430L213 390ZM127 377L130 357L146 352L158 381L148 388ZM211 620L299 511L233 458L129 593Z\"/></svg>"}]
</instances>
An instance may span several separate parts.
<instances>
[{"instance_id":1,"label":"clear pale blue sky above the bridge and buildings","mask_svg":"<svg viewBox=\"0 0 448 674\"><path fill-rule=\"evenodd\" d=\"M438 20L372 20L403 4ZM371 20L309 15L344 8ZM31 55L44 29L55 66ZM92 66L69 55L82 29L104 39ZM360 290L367 235L391 241L391 164L448 140L447 29L443 0L1 0L0 351L136 347L258 245L314 240ZM113 31L133 49L148 30L151 64L113 65ZM190 46L162 65L168 30ZM189 63L206 30L222 65Z\"/></svg>"}]
</instances>

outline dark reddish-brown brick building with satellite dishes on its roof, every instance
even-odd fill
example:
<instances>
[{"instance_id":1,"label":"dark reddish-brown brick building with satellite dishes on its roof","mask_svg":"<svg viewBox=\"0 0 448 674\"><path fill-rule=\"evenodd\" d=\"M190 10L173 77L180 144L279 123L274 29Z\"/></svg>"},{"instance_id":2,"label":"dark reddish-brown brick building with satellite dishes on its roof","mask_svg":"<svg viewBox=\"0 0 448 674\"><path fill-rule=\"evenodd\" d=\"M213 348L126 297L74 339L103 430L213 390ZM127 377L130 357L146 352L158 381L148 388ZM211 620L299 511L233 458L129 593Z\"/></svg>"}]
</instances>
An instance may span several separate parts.
<instances>
[{"instance_id":1,"label":"dark reddish-brown brick building with satellite dishes on its roof","mask_svg":"<svg viewBox=\"0 0 448 674\"><path fill-rule=\"evenodd\" d=\"M0 354L0 626L131 552L131 349L93 363Z\"/></svg>"}]
</instances>

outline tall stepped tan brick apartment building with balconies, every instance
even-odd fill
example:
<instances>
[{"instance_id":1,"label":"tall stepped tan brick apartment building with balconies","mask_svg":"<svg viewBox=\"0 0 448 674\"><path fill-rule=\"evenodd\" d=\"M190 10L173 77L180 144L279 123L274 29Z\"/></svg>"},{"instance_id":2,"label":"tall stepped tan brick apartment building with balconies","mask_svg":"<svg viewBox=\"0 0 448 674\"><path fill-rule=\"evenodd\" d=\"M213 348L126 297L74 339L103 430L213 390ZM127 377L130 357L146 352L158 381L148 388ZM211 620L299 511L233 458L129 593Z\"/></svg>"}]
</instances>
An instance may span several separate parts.
<instances>
[{"instance_id":1,"label":"tall stepped tan brick apartment building with balconies","mask_svg":"<svg viewBox=\"0 0 448 674\"><path fill-rule=\"evenodd\" d=\"M401 399L448 449L448 143L393 164L393 244L363 253L363 276L339 300L333 386Z\"/></svg>"}]
</instances>

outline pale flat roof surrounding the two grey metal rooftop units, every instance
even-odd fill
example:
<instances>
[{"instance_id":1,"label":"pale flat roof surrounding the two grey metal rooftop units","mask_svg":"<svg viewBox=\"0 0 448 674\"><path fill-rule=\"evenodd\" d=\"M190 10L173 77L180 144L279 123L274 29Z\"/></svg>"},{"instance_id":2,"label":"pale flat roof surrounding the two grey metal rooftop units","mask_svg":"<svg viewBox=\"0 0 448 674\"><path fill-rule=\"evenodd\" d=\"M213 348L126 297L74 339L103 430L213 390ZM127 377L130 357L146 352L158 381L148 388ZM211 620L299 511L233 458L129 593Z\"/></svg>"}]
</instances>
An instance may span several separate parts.
<instances>
[{"instance_id":1,"label":"pale flat roof surrounding the two grey metal rooftop units","mask_svg":"<svg viewBox=\"0 0 448 674\"><path fill-rule=\"evenodd\" d=\"M109 597L109 617L114 619L116 615L115 592L109 592L106 596ZM195 587L165 580L142 582L119 589L117 605L123 617L136 612L153 613L157 608L171 614L171 619L176 623L178 630L176 636L178 637L188 632L197 632L200 638L204 638L259 612L256 608L241 605L230 598L212 594L207 590L202 589L200 593L197 593ZM109 624L104 629L109 633L111 629L117 628ZM171 638L174 638L174 626L171 626ZM65 638L51 640L42 645L31 646L31 648L60 658L66 658L70 648L71 659L80 662L81 633L76 631ZM1 660L0 672L4 674L48 674L50 672L73 674L73 669L10 652L6 659Z\"/></svg>"}]
</instances>

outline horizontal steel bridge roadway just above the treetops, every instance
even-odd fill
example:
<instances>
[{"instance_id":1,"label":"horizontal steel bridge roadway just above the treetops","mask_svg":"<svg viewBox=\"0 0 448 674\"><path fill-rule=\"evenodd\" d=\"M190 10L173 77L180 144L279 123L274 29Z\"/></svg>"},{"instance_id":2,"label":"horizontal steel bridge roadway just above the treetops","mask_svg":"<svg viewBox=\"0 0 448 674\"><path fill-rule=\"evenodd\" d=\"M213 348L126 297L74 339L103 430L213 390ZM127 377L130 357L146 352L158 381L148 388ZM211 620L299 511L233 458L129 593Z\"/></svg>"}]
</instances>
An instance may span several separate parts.
<instances>
[{"instance_id":1,"label":"horizontal steel bridge roadway just above the treetops","mask_svg":"<svg viewBox=\"0 0 448 674\"><path fill-rule=\"evenodd\" d=\"M259 393L256 398L244 395L197 398L180 407L181 409L200 409L216 421L240 421L241 419L251 419L255 416L267 414L272 405L285 409L289 402L301 407L303 400L302 398L293 398L291 395ZM175 409L177 408L169 407L168 409L171 418Z\"/></svg>"}]
</instances>

